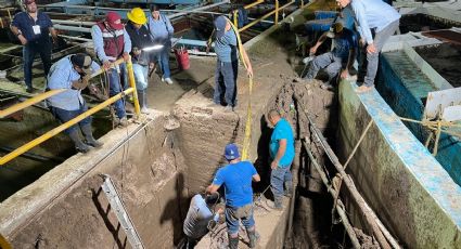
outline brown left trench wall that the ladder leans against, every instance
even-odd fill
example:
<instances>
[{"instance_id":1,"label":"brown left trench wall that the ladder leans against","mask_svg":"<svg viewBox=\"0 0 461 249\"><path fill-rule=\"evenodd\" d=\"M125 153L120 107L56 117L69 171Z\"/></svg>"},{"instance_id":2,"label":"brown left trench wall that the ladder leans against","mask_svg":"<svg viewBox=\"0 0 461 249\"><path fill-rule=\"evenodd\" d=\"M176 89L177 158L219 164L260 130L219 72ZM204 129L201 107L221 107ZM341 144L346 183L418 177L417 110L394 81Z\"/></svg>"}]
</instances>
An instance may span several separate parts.
<instances>
[{"instance_id":1,"label":"brown left trench wall that the ladder leans against","mask_svg":"<svg viewBox=\"0 0 461 249\"><path fill-rule=\"evenodd\" d=\"M14 248L125 248L128 244L100 186L108 174L145 248L182 237L187 191L176 135L164 117L105 135L0 205L0 233ZM127 246L129 247L129 246Z\"/></svg>"}]
</instances>

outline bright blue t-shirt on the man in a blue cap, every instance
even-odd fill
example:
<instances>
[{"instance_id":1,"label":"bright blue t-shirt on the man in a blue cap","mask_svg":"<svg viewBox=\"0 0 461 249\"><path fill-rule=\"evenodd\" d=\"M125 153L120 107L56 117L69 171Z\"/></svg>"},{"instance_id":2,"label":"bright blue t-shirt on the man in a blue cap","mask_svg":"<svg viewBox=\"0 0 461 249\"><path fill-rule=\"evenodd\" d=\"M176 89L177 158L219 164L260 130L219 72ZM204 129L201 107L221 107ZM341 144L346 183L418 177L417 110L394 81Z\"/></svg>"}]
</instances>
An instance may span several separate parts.
<instances>
[{"instance_id":1,"label":"bright blue t-shirt on the man in a blue cap","mask_svg":"<svg viewBox=\"0 0 461 249\"><path fill-rule=\"evenodd\" d=\"M252 179L257 174L249 161L227 165L218 170L214 185L225 185L226 206L240 208L253 201Z\"/></svg>"}]
</instances>

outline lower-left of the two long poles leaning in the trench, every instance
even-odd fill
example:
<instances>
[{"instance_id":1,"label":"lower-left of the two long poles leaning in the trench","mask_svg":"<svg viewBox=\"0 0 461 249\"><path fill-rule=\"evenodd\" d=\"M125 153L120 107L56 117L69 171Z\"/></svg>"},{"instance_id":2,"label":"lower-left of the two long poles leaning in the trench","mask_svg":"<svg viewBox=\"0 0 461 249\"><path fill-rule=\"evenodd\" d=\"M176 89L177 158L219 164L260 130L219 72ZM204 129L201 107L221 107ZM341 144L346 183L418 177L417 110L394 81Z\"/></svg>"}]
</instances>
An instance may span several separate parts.
<instances>
[{"instance_id":1,"label":"lower-left of the two long poles leaning in the trench","mask_svg":"<svg viewBox=\"0 0 461 249\"><path fill-rule=\"evenodd\" d=\"M308 147L306 143L306 139L303 141L304 148L307 152L307 155L310 158L310 161L312 162L316 170L319 172L320 178L322 179L323 184L326 187L326 191L331 194L331 196L334 198L337 195L337 192L331 186L329 183L329 180L326 179L325 172L323 172L322 167L317 162L316 158L313 157L312 153L310 152L310 148ZM354 231L353 226L350 225L349 219L346 215L346 212L344 211L343 202L341 199L337 200L336 205L336 211L341 217L341 220L343 222L344 228L346 230L347 235L349 235L350 241L353 243L354 248L361 248L359 240L357 239L356 232Z\"/></svg>"}]
</instances>

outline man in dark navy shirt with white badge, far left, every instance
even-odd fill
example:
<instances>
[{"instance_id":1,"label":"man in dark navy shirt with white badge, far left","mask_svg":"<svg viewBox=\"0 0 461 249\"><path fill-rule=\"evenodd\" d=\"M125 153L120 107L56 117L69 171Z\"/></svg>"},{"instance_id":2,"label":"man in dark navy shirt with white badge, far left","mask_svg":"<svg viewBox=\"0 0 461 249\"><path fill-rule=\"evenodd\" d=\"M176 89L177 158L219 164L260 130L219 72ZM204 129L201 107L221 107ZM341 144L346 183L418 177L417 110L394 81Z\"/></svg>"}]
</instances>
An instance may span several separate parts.
<instances>
[{"instance_id":1,"label":"man in dark navy shirt with white badge, far left","mask_svg":"<svg viewBox=\"0 0 461 249\"><path fill-rule=\"evenodd\" d=\"M53 28L50 17L46 13L37 10L35 0L23 0L23 4L25 5L26 11L14 15L10 28L21 41L21 44L24 45L24 81L26 83L26 91L31 93L34 91L34 57L37 53L40 54L41 62L43 63L44 75L48 75L51 67L52 50L50 34L53 41L57 40L57 34Z\"/></svg>"}]
</instances>

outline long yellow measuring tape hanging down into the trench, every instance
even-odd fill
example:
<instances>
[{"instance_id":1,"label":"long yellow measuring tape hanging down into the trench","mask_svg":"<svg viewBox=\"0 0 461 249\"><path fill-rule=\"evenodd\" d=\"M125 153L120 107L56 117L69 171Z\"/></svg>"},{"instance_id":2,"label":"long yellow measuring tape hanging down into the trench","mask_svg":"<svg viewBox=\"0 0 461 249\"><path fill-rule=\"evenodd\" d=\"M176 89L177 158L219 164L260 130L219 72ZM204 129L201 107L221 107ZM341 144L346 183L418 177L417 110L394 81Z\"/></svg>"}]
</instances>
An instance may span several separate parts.
<instances>
[{"instance_id":1,"label":"long yellow measuring tape hanging down into the trench","mask_svg":"<svg viewBox=\"0 0 461 249\"><path fill-rule=\"evenodd\" d=\"M230 19L228 19L227 17L226 19L230 23L233 31L235 32L236 41L239 44L240 58L243 63L243 66L245 66L245 68L248 68L248 65L245 64L245 60L243 58L243 52L242 52L243 44L242 44L242 40L240 39L239 29L232 24L232 22L230 22ZM248 106L246 107L245 137L243 139L242 160L247 160L249 157L248 149L249 149L249 142L252 139L252 91L253 91L253 76L249 77L249 82L248 82Z\"/></svg>"}]
</instances>

